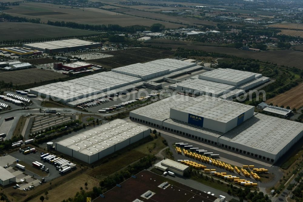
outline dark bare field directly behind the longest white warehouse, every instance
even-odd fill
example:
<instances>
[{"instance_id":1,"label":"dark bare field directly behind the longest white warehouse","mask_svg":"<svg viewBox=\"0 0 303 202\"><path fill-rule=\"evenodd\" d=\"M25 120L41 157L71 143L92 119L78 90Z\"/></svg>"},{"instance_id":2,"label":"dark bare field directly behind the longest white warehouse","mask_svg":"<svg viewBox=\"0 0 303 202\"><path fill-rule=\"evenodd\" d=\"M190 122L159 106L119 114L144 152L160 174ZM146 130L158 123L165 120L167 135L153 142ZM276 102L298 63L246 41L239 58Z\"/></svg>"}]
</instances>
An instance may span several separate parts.
<instances>
[{"instance_id":1,"label":"dark bare field directly behind the longest white warehouse","mask_svg":"<svg viewBox=\"0 0 303 202\"><path fill-rule=\"evenodd\" d=\"M128 49L122 51L104 52L114 57L87 60L89 63L101 65L107 69L135 64L138 62L148 62L155 59L169 58L174 55L173 51L150 48Z\"/></svg>"}]
</instances>

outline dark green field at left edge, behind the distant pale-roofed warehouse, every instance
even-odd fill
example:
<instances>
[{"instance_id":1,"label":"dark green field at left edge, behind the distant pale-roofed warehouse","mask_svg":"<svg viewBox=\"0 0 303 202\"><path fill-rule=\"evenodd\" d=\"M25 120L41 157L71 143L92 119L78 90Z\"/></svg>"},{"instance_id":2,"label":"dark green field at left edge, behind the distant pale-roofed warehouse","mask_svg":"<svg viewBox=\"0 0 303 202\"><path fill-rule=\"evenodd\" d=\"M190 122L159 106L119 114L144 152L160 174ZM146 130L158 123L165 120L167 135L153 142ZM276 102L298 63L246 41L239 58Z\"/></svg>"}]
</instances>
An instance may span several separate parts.
<instances>
[{"instance_id":1,"label":"dark green field at left edge, behind the distant pale-roofed warehouse","mask_svg":"<svg viewBox=\"0 0 303 202\"><path fill-rule=\"evenodd\" d=\"M15 39L38 39L58 36L77 36L100 33L82 29L34 24L29 22L0 22L0 27L0 41Z\"/></svg>"}]
</instances>

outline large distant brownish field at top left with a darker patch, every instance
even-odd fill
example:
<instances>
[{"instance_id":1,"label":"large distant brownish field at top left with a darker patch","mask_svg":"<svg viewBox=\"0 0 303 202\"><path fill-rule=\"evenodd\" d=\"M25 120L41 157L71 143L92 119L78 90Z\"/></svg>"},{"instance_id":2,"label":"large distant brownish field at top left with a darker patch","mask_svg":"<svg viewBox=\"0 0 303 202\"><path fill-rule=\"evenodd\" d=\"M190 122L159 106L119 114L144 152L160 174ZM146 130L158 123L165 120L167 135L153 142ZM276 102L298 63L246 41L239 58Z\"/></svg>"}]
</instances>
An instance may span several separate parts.
<instances>
[{"instance_id":1,"label":"large distant brownish field at top left with a darker patch","mask_svg":"<svg viewBox=\"0 0 303 202\"><path fill-rule=\"evenodd\" d=\"M167 28L178 28L181 25L161 22L158 20L144 19L130 15L123 15L112 11L99 8L71 8L69 6L53 5L46 3L25 2L19 6L11 6L12 9L5 10L5 13L27 18L40 18L42 22L65 21L76 22L80 24L100 25L100 24L118 24L121 26L145 25L151 26L155 23L161 23ZM58 14L58 12L60 14ZM63 14L62 14L63 13ZM45 15L47 14L47 15Z\"/></svg>"}]
</instances>

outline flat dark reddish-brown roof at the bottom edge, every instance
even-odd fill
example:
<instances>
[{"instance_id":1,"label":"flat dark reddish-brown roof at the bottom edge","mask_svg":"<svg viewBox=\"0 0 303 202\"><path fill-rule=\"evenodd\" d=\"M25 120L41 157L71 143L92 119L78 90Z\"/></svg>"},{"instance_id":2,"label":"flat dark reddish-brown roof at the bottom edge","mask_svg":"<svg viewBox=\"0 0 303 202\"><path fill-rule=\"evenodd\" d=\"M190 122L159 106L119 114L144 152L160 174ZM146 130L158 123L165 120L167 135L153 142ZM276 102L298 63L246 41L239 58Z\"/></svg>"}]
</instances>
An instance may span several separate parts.
<instances>
[{"instance_id":1,"label":"flat dark reddish-brown roof at the bottom edge","mask_svg":"<svg viewBox=\"0 0 303 202\"><path fill-rule=\"evenodd\" d=\"M136 199L142 201L153 202L213 202L217 197L207 194L201 190L188 187L184 184L178 183L175 180L163 177L148 170L142 170L135 175L137 178L129 178L120 183L120 187L114 187L108 190L103 195L105 198L98 197L93 202L102 201L123 201L132 202ZM176 179L177 180L177 179ZM160 184L168 182L170 184L166 189L158 187ZM141 197L148 190L155 194L150 199Z\"/></svg>"}]
</instances>

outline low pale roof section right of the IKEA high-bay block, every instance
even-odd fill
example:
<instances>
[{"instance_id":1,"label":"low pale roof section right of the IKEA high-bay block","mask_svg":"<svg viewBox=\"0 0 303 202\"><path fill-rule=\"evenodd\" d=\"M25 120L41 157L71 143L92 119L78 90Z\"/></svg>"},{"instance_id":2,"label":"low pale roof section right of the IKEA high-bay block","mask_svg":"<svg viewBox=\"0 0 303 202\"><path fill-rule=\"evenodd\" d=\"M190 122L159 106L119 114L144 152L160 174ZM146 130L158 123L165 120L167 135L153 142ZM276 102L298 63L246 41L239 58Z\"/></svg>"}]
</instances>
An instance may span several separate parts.
<instances>
[{"instance_id":1,"label":"low pale roof section right of the IKEA high-bay block","mask_svg":"<svg viewBox=\"0 0 303 202\"><path fill-rule=\"evenodd\" d=\"M223 134L219 142L226 140L276 155L289 143L294 143L293 140L302 131L302 123L258 113Z\"/></svg>"}]
</instances>

